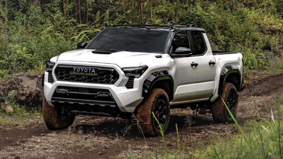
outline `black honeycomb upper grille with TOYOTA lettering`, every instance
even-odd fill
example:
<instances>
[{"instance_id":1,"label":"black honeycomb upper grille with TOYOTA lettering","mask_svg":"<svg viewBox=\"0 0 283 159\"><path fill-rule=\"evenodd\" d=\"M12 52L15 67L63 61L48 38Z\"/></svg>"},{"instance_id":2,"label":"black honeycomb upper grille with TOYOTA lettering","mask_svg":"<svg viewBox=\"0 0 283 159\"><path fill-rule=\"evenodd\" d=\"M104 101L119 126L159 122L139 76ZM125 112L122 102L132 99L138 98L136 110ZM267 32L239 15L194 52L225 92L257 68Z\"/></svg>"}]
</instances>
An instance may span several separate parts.
<instances>
[{"instance_id":1,"label":"black honeycomb upper grille with TOYOTA lettering","mask_svg":"<svg viewBox=\"0 0 283 159\"><path fill-rule=\"evenodd\" d=\"M74 70L93 70L93 72L73 72ZM58 65L55 69L58 81L86 82L114 84L119 79L119 74L114 68Z\"/></svg>"}]
</instances>

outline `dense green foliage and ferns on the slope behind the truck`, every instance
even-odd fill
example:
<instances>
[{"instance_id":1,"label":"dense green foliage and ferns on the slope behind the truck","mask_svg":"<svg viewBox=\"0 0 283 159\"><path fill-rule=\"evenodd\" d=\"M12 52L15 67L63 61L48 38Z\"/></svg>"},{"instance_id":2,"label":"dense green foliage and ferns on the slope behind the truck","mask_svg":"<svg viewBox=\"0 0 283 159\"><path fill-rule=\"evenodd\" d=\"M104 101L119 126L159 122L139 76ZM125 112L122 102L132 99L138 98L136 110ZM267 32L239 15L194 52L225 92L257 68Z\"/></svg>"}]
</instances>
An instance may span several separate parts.
<instances>
[{"instance_id":1,"label":"dense green foliage and ferns on the slope behind the truck","mask_svg":"<svg viewBox=\"0 0 283 159\"><path fill-rule=\"evenodd\" d=\"M116 24L174 24L206 29L213 49L240 50L248 69L268 67L266 50L277 47L282 28L282 0L259 1L136 1L53 0L0 1L0 78L18 72L43 72L53 56L76 49L105 27ZM69 14L67 13L69 12ZM7 16L6 16L7 15ZM69 16L68 16L69 15ZM268 28L274 31L268 31ZM282 41L281 41L282 42ZM261 47L255 47L257 44Z\"/></svg>"}]
</instances>

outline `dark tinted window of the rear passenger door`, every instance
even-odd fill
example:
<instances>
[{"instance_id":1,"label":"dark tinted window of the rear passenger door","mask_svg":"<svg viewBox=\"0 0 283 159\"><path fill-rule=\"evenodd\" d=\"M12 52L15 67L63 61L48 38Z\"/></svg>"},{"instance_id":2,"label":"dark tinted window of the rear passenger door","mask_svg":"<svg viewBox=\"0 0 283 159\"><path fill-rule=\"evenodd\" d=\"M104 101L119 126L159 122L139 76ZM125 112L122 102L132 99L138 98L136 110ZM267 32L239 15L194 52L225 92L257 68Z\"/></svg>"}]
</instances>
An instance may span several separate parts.
<instances>
[{"instance_id":1,"label":"dark tinted window of the rear passenger door","mask_svg":"<svg viewBox=\"0 0 283 159\"><path fill-rule=\"evenodd\" d=\"M194 55L201 55L206 51L206 47L204 44L204 40L202 38L202 33L200 31L192 31L192 39L193 44L195 47L195 53Z\"/></svg>"}]
</instances>

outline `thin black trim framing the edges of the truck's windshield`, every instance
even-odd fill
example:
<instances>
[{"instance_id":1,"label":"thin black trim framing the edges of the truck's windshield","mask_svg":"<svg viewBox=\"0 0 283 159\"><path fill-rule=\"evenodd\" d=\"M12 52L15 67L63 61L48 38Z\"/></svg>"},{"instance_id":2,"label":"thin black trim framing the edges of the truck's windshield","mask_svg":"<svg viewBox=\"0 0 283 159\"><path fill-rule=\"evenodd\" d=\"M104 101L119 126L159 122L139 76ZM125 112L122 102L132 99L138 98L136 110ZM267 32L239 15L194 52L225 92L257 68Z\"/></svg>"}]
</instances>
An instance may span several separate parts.
<instances>
[{"instance_id":1,"label":"thin black trim framing the edges of the truck's windshield","mask_svg":"<svg viewBox=\"0 0 283 159\"><path fill-rule=\"evenodd\" d=\"M147 29L147 28L114 28L114 27L107 27L103 30L101 30L89 43L88 45L85 47L85 49L90 49L90 50L96 50L96 49L91 49L89 48L89 45L101 34L103 33L106 29L135 29L135 30L159 30L159 29ZM163 52L160 52L160 53L154 53L154 52L147 52L147 53L154 53L154 54L165 54L165 50L167 48L167 42L168 42L168 39L170 38L170 35L171 35L171 31L169 30L160 30L160 31L167 31L168 32L168 35L167 35L167 38L165 40L165 44L164 44L164 47L163 47ZM142 52L142 51L134 51L134 52Z\"/></svg>"}]
</instances>

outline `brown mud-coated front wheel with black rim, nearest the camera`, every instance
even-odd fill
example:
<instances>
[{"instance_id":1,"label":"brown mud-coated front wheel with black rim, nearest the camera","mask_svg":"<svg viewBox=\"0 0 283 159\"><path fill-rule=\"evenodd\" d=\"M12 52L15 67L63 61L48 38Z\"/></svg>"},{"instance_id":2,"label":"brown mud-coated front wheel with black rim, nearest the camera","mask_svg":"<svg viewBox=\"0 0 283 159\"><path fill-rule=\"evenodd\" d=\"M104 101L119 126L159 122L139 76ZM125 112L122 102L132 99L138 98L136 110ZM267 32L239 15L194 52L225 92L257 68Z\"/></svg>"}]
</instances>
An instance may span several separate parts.
<instances>
[{"instance_id":1,"label":"brown mud-coated front wheel with black rim, nearest the camera","mask_svg":"<svg viewBox=\"0 0 283 159\"><path fill-rule=\"evenodd\" d=\"M161 124L163 132L165 132L169 124L170 102L163 89L154 88L137 110L137 118L140 123L139 132L146 136L161 135L159 125L153 118L152 112Z\"/></svg>"}]
</instances>

